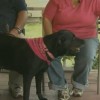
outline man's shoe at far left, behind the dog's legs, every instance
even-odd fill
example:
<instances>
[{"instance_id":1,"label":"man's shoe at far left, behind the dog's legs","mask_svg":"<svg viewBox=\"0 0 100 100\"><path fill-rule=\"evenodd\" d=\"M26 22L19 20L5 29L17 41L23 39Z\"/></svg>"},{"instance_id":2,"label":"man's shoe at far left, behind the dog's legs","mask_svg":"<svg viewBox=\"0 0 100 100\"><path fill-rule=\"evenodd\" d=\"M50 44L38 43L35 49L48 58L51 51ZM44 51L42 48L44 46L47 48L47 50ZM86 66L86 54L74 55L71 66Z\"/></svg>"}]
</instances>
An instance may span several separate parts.
<instances>
[{"instance_id":1,"label":"man's shoe at far left, behind the dog's legs","mask_svg":"<svg viewBox=\"0 0 100 100\"><path fill-rule=\"evenodd\" d=\"M23 97L23 90L22 87L10 87L9 92L11 93L12 97L14 98L21 98Z\"/></svg>"}]
</instances>

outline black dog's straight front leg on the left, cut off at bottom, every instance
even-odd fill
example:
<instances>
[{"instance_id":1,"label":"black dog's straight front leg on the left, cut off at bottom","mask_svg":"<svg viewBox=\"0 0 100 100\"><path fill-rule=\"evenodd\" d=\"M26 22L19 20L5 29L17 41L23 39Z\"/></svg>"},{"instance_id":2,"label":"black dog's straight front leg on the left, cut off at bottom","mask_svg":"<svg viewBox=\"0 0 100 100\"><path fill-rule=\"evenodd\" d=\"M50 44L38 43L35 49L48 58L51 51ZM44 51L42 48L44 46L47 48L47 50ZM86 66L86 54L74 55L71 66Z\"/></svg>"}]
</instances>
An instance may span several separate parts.
<instances>
[{"instance_id":1,"label":"black dog's straight front leg on the left, cut off at bottom","mask_svg":"<svg viewBox=\"0 0 100 100\"><path fill-rule=\"evenodd\" d=\"M29 100L32 78L32 74L23 75L23 100Z\"/></svg>"}]
</instances>

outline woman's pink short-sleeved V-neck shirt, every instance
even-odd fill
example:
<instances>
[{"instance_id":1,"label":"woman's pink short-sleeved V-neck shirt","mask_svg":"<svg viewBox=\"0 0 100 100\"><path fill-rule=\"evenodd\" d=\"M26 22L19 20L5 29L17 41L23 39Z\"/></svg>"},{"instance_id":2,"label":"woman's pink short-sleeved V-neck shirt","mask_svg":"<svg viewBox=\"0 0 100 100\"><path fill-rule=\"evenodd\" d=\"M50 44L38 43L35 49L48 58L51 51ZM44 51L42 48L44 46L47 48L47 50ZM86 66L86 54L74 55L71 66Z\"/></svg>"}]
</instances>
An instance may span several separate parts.
<instances>
[{"instance_id":1,"label":"woman's pink short-sleeved V-neck shirt","mask_svg":"<svg viewBox=\"0 0 100 100\"><path fill-rule=\"evenodd\" d=\"M82 39L96 37L100 0L80 0L75 8L71 0L49 0L43 16L52 21L53 32L67 29Z\"/></svg>"}]
</instances>

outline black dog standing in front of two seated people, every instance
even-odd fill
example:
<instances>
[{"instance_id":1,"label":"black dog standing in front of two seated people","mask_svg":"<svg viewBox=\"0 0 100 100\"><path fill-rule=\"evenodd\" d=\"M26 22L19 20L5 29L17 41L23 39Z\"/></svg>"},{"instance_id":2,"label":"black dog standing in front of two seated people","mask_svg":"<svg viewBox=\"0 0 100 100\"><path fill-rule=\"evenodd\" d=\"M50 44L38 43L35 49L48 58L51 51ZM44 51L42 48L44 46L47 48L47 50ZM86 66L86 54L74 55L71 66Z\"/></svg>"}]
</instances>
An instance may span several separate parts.
<instances>
[{"instance_id":1,"label":"black dog standing in front of two seated people","mask_svg":"<svg viewBox=\"0 0 100 100\"><path fill-rule=\"evenodd\" d=\"M54 57L69 54L70 51L76 53L76 48L84 44L83 40L65 30L45 36L43 41ZM49 60L52 60L48 51L46 55ZM43 72L48 68L48 63L32 51L26 39L0 35L0 66L3 66L0 69L14 70L23 75L23 100L29 100L33 76L36 79L36 93L39 100L47 100L41 94L41 80Z\"/></svg>"}]
</instances>

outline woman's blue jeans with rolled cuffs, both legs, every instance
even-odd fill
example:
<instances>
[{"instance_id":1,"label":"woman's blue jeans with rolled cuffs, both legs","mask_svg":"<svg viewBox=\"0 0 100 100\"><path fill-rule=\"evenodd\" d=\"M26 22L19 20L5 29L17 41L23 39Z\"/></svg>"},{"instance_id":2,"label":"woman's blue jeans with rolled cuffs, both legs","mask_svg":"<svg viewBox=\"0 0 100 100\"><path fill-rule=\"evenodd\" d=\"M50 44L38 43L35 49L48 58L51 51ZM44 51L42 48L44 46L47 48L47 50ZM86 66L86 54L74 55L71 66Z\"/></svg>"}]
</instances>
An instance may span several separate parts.
<instances>
[{"instance_id":1,"label":"woman's blue jeans with rolled cuffs, both legs","mask_svg":"<svg viewBox=\"0 0 100 100\"><path fill-rule=\"evenodd\" d=\"M82 47L80 52L75 56L74 72L71 79L73 87L82 90L88 85L88 75L92 69L99 44L97 38L85 39L84 41L84 47ZM68 87L61 64L61 57L58 57L51 62L47 72L50 79L50 89L62 90Z\"/></svg>"}]
</instances>

